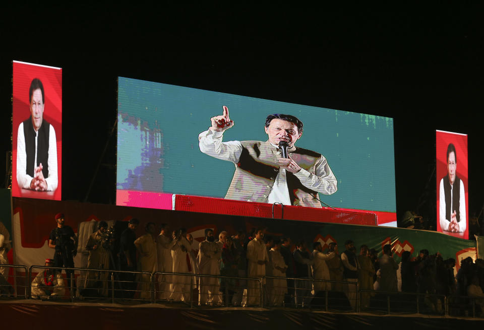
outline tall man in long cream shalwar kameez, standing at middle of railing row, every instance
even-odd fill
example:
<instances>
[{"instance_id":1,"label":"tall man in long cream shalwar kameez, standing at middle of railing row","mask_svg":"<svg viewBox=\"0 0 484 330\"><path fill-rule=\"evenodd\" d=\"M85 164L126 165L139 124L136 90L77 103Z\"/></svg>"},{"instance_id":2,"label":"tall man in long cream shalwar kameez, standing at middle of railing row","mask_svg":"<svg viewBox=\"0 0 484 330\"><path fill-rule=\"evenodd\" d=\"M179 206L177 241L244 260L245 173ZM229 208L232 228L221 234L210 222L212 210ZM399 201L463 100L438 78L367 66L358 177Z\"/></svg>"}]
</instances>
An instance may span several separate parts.
<instances>
[{"instance_id":1,"label":"tall man in long cream shalwar kameez, standing at middle of railing row","mask_svg":"<svg viewBox=\"0 0 484 330\"><path fill-rule=\"evenodd\" d=\"M269 262L267 248L263 241L264 229L257 229L256 237L247 244L247 259L249 261L248 276L262 278L266 275L266 265ZM247 305L260 305L260 287L258 281L249 281L247 292Z\"/></svg>"}]
</instances>

